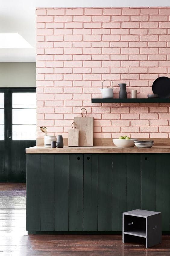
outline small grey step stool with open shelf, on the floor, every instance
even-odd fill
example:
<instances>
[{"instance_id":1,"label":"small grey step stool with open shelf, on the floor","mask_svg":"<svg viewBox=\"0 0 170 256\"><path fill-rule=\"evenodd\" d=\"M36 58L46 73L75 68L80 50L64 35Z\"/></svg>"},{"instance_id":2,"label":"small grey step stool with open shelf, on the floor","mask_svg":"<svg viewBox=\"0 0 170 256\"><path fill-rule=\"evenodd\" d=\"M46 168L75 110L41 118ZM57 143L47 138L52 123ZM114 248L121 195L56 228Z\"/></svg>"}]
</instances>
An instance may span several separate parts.
<instances>
[{"instance_id":1,"label":"small grey step stool with open shelf, on the floor","mask_svg":"<svg viewBox=\"0 0 170 256\"><path fill-rule=\"evenodd\" d=\"M123 212L123 243L132 241L132 236L145 238L146 248L162 242L161 212L136 209Z\"/></svg>"}]
</instances>

